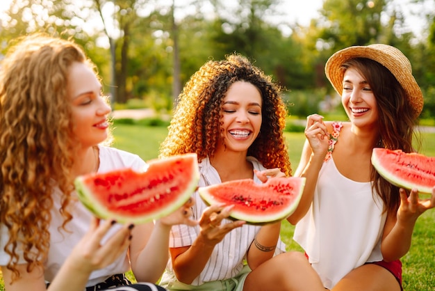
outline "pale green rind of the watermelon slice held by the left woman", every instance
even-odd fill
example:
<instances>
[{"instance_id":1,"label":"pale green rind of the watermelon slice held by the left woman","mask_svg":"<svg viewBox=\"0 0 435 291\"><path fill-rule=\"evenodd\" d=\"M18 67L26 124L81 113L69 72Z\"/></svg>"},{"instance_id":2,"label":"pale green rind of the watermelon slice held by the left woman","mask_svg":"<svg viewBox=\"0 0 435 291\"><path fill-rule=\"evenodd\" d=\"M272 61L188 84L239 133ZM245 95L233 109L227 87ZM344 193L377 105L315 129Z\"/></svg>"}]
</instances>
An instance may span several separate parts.
<instances>
[{"instance_id":1,"label":"pale green rind of the watermelon slice held by the left woman","mask_svg":"<svg viewBox=\"0 0 435 291\"><path fill-rule=\"evenodd\" d=\"M160 209L151 212L149 214L144 214L141 215L140 217L136 217L136 216L127 217L124 215L120 216L115 212L111 212L110 210L107 210L103 205L99 203L97 199L93 198L92 194L90 194L90 189L86 187L85 183L83 182L85 180L85 176L79 176L74 180L77 196L79 197L79 200L81 200L81 203L83 203L83 205L88 210L90 210L92 214L94 214L96 217L99 217L100 219L114 219L119 223L142 224L142 223L147 223L149 221L153 221L155 219L166 217L167 215L171 214L175 210L179 209L179 207L181 207L184 203L186 203L186 201L197 190L198 182L199 182L197 155L195 153L189 153L189 154L185 154L184 156L188 156L188 155L195 155L195 159L193 159L195 162L192 162L192 166L190 169L190 173L192 173L192 175L190 177L190 182L186 184L186 190L183 191L182 194L179 194L177 200L174 200L172 203L167 203L165 207L161 207ZM178 159L178 158L179 156L174 156L174 157L168 157L167 159ZM149 161L149 163L151 162L154 162L154 160ZM158 162L157 159L156 162Z\"/></svg>"}]
</instances>

